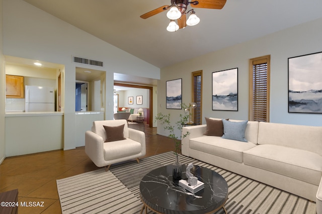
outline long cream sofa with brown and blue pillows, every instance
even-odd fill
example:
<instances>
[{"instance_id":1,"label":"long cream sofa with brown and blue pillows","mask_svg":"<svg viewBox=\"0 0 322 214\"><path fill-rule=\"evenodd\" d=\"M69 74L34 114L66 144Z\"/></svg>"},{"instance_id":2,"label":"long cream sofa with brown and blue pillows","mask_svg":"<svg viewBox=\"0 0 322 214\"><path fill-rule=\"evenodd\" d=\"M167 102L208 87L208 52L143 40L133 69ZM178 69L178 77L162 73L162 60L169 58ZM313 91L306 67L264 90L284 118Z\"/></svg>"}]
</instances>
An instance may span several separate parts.
<instances>
[{"instance_id":1,"label":"long cream sofa with brown and blue pillows","mask_svg":"<svg viewBox=\"0 0 322 214\"><path fill-rule=\"evenodd\" d=\"M322 213L322 127L248 121L248 142L204 135L206 127L183 128L183 155L316 201Z\"/></svg>"}]
</instances>

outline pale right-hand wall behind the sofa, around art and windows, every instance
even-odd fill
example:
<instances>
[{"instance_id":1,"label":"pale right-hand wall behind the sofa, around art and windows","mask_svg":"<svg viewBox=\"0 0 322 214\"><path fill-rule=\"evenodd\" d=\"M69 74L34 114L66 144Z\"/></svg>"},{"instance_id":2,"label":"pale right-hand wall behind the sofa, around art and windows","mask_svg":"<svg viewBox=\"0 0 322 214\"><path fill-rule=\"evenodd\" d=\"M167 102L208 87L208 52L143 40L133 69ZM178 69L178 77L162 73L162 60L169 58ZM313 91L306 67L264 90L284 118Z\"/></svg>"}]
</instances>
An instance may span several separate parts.
<instances>
[{"instance_id":1,"label":"pale right-hand wall behind the sofa, around art and windows","mask_svg":"<svg viewBox=\"0 0 322 214\"><path fill-rule=\"evenodd\" d=\"M203 70L203 124L204 117L248 120L249 59L271 55L270 122L322 126L322 114L288 113L288 58L321 52L321 26L318 19L161 69L158 111L171 113L173 121L178 121L182 111L166 109L166 81L182 78L183 102L189 104L191 72ZM238 111L213 111L211 74L231 68L238 68ZM162 127L157 132L166 133Z\"/></svg>"}]
</instances>

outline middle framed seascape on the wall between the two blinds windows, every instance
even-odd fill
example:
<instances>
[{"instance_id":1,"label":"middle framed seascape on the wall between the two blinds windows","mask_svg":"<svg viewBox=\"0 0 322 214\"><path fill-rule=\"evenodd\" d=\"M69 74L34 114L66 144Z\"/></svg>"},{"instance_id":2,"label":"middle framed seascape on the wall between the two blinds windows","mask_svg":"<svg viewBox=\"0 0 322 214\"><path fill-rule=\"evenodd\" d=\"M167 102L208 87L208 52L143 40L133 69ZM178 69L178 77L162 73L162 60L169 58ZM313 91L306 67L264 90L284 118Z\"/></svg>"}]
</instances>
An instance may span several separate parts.
<instances>
[{"instance_id":1,"label":"middle framed seascape on the wall between the two blinds windows","mask_svg":"<svg viewBox=\"0 0 322 214\"><path fill-rule=\"evenodd\" d=\"M238 111L238 68L212 73L212 110Z\"/></svg>"}]
</instances>

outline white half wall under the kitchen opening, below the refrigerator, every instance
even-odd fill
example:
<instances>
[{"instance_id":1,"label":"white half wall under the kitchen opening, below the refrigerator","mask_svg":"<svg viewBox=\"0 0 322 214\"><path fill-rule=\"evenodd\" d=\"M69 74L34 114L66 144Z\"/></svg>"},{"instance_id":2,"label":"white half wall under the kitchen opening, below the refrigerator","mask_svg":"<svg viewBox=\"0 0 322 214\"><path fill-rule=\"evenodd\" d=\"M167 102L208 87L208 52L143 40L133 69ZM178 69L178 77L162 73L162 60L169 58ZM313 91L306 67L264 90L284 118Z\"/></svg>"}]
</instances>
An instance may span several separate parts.
<instances>
[{"instance_id":1,"label":"white half wall under the kitchen opening, below the refrigerator","mask_svg":"<svg viewBox=\"0 0 322 214\"><path fill-rule=\"evenodd\" d=\"M64 148L63 112L6 112L6 156Z\"/></svg>"}]
</instances>

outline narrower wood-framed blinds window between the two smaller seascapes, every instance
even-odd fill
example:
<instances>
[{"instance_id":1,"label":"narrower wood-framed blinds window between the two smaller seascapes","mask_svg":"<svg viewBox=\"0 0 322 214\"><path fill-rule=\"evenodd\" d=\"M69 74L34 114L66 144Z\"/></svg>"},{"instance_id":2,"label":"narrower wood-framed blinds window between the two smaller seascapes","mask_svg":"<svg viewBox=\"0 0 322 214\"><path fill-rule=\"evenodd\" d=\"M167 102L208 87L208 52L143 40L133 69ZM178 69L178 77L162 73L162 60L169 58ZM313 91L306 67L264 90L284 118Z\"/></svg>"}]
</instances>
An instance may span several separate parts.
<instances>
[{"instance_id":1,"label":"narrower wood-framed blinds window between the two smaller seascapes","mask_svg":"<svg viewBox=\"0 0 322 214\"><path fill-rule=\"evenodd\" d=\"M197 104L194 109L193 122L201 124L201 103L202 103L202 71L192 72L192 102Z\"/></svg>"}]
</instances>

